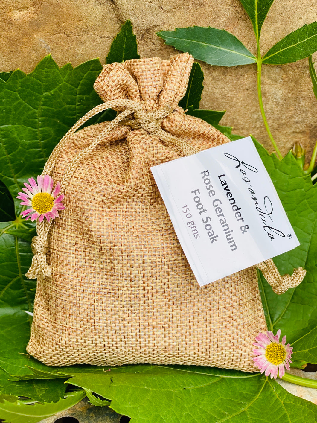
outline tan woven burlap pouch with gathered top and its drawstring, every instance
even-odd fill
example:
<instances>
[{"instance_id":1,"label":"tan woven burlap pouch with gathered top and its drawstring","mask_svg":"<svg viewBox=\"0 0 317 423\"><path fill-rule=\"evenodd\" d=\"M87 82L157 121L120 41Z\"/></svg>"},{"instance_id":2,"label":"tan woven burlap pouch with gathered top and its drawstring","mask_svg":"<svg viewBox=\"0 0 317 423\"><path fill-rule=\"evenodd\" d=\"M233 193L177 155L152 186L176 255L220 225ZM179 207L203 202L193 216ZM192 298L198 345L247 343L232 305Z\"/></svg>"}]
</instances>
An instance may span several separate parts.
<instances>
[{"instance_id":1,"label":"tan woven burlap pouch with gathered top and its drawstring","mask_svg":"<svg viewBox=\"0 0 317 423\"><path fill-rule=\"evenodd\" d=\"M38 278L27 352L43 363L184 364L256 371L252 343L266 330L250 267L199 287L150 166L229 140L178 107L193 58L105 65L94 88L105 102L63 137L43 170L60 181L66 209L37 223L27 276ZM118 116L77 129L112 107ZM281 277L259 265L277 293Z\"/></svg>"}]
</instances>

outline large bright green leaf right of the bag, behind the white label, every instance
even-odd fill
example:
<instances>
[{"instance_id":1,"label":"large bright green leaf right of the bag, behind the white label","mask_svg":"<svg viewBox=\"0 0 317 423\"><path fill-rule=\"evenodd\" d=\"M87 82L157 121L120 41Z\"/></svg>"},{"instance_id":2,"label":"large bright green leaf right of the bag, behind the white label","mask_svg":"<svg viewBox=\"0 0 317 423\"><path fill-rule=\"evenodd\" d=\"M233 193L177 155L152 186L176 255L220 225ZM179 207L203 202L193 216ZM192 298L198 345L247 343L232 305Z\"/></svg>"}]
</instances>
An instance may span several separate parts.
<instances>
[{"instance_id":1,"label":"large bright green leaf right of the bag, behind the white label","mask_svg":"<svg viewBox=\"0 0 317 423\"><path fill-rule=\"evenodd\" d=\"M255 142L265 168L301 245L274 258L281 274L292 274L302 266L307 274L303 282L285 294L276 295L266 280L259 279L262 303L268 327L281 329L293 349L292 360L317 363L317 185L303 175L291 153L279 161Z\"/></svg>"}]
</instances>

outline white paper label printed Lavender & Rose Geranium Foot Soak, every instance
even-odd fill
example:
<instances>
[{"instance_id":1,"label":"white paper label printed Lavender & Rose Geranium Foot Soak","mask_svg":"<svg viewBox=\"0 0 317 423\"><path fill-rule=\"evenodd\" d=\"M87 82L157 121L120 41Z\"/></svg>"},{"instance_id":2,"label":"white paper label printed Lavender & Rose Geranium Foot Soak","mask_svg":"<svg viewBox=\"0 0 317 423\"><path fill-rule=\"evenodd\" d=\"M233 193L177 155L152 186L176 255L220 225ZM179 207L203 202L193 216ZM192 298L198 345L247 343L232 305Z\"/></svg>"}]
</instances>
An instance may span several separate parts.
<instances>
[{"instance_id":1,"label":"white paper label printed Lavender & Rose Geranium Foot Soak","mask_svg":"<svg viewBox=\"0 0 317 423\"><path fill-rule=\"evenodd\" d=\"M151 170L200 286L299 245L251 137Z\"/></svg>"}]
</instances>

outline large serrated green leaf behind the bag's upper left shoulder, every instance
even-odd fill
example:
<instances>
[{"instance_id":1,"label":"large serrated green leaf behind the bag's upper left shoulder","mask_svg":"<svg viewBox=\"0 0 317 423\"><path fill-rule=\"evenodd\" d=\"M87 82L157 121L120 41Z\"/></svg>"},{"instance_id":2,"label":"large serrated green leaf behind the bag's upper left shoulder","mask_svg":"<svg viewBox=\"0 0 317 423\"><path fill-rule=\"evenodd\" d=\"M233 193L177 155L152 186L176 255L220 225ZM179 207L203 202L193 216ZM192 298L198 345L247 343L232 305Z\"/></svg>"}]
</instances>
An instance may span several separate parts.
<instances>
[{"instance_id":1,"label":"large serrated green leaf behind the bag's upper left shoulder","mask_svg":"<svg viewBox=\"0 0 317 423\"><path fill-rule=\"evenodd\" d=\"M47 56L32 73L14 71L0 84L0 179L14 198L17 214L21 206L15 197L23 182L41 174L60 138L101 103L93 90L100 71L98 59L59 69Z\"/></svg>"}]
</instances>

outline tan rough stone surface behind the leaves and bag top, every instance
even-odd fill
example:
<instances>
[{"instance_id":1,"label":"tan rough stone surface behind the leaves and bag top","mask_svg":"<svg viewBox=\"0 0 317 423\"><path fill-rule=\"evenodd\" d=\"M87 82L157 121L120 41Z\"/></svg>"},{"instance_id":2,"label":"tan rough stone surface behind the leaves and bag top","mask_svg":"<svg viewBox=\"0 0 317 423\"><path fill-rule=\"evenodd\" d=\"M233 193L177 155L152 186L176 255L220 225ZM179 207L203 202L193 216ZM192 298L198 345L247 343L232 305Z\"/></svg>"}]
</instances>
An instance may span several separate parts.
<instances>
[{"instance_id":1,"label":"tan rough stone surface behind the leaves and bag top","mask_svg":"<svg viewBox=\"0 0 317 423\"><path fill-rule=\"evenodd\" d=\"M141 57L169 58L172 47L156 36L175 27L214 26L238 37L251 52L256 43L239 0L0 0L0 71L33 70L48 53L58 65L77 66L100 57L104 63L121 23L131 19ZM275 0L262 27L264 54L291 31L317 20L312 0ZM314 58L314 56L313 56ZM316 54L317 60L317 54ZM233 68L202 64L201 108L227 110L221 124L253 134L271 149L257 102L255 65ZM263 66L262 93L271 132L286 153L295 141L309 147L317 138L317 100L308 59Z\"/></svg>"}]
</instances>

